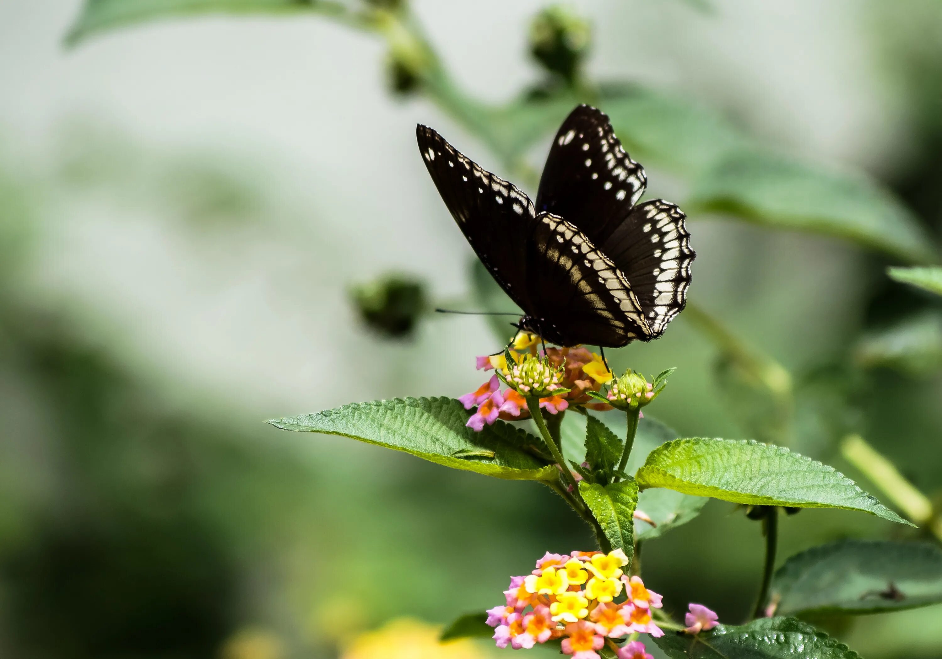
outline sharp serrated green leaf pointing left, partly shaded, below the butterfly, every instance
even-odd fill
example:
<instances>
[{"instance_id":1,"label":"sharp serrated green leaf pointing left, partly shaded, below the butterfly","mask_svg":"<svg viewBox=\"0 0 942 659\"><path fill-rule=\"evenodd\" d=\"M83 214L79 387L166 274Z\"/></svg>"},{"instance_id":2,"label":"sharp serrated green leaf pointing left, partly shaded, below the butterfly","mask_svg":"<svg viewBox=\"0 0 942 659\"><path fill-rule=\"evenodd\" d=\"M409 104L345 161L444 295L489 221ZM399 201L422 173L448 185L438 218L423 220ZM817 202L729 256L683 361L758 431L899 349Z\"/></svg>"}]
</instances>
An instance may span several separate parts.
<instances>
[{"instance_id":1,"label":"sharp serrated green leaf pointing left, partly shaded, below the butterfly","mask_svg":"<svg viewBox=\"0 0 942 659\"><path fill-rule=\"evenodd\" d=\"M397 398L350 403L268 423L283 430L343 435L497 478L549 480L558 476L554 465L538 457L545 450L543 442L522 428L497 421L475 432L464 426L467 420L468 412L452 398ZM493 452L494 457L476 459L481 451Z\"/></svg>"}]
</instances>

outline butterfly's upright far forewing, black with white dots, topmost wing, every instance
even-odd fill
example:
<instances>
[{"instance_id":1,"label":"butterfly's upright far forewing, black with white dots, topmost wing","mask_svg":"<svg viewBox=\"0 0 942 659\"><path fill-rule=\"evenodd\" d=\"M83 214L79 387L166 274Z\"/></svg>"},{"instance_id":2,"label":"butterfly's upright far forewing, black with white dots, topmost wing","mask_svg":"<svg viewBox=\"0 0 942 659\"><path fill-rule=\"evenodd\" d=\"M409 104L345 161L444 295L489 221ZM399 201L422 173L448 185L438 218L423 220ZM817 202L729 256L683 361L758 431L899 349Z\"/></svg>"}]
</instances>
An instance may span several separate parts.
<instances>
[{"instance_id":1,"label":"butterfly's upright far forewing, black with white dots, topmost wing","mask_svg":"<svg viewBox=\"0 0 942 659\"><path fill-rule=\"evenodd\" d=\"M625 153L608 116L579 105L553 140L536 209L565 217L601 245L646 184L644 169Z\"/></svg>"}]
</instances>

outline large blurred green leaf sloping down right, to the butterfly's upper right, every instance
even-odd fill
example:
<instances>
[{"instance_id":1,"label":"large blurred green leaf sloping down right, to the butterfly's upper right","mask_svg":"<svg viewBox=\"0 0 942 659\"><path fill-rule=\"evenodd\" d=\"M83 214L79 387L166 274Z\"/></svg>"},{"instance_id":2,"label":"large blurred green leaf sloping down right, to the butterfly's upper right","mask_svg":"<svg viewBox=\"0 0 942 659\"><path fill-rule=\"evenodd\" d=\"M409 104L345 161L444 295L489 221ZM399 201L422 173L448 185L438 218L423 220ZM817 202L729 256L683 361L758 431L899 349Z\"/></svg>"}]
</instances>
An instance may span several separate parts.
<instances>
[{"instance_id":1,"label":"large blurred green leaf sloping down right, to the butterfly's upper right","mask_svg":"<svg viewBox=\"0 0 942 659\"><path fill-rule=\"evenodd\" d=\"M694 182L687 208L733 215L775 229L823 233L912 263L937 260L916 217L860 175L756 149L723 157Z\"/></svg>"}]
</instances>

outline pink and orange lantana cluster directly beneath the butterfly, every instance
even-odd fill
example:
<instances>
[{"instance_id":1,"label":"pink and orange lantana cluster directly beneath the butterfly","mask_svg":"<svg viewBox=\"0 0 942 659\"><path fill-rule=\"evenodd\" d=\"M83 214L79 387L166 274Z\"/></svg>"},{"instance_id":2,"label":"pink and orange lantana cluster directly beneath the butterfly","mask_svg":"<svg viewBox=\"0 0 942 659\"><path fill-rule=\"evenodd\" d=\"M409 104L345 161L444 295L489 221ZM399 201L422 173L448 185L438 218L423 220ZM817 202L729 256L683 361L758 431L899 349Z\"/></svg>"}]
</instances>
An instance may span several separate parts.
<instances>
[{"instance_id":1,"label":"pink and orange lantana cluster directly beneath the butterfly","mask_svg":"<svg viewBox=\"0 0 942 659\"><path fill-rule=\"evenodd\" d=\"M514 337L512 362L504 354L482 355L477 358L479 370L499 372L477 390L459 398L465 410L478 410L466 426L477 431L497 419L518 421L528 419L528 395L539 395L540 407L550 414L567 410L571 405L591 410L611 410L587 392L597 392L612 379L602 357L585 347L549 347L537 350L540 337L520 332ZM508 383L501 391L501 379ZM554 392L559 392L554 394Z\"/></svg>"}]
</instances>

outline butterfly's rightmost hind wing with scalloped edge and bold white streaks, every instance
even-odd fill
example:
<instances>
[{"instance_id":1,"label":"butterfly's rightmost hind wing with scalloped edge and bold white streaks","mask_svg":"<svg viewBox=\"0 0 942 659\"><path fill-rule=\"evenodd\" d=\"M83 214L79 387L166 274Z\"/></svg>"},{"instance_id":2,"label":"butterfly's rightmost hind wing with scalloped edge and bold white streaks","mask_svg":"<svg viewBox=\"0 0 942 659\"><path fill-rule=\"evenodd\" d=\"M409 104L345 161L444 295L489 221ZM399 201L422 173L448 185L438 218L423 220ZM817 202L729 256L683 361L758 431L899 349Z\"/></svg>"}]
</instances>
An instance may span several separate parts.
<instances>
[{"instance_id":1,"label":"butterfly's rightmost hind wing with scalloped edge and bold white streaks","mask_svg":"<svg viewBox=\"0 0 942 659\"><path fill-rule=\"evenodd\" d=\"M683 311L690 286L690 232L681 210L667 201L645 201L632 208L601 249L625 273L657 339Z\"/></svg>"}]
</instances>

